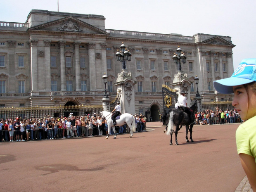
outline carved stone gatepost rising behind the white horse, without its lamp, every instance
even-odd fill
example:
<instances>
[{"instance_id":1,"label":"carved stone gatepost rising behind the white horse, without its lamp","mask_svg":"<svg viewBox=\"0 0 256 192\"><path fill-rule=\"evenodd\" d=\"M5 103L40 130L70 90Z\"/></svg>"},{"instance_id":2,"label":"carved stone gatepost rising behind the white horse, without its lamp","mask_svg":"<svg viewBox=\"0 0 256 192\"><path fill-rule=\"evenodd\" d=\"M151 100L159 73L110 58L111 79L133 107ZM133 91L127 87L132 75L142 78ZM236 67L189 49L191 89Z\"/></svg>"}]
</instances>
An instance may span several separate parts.
<instances>
[{"instance_id":1,"label":"carved stone gatepost rising behind the white horse, without its lamp","mask_svg":"<svg viewBox=\"0 0 256 192\"><path fill-rule=\"evenodd\" d=\"M116 92L120 92L120 105L121 113L135 114L135 92L134 85L137 82L133 80L132 73L123 69L121 73L118 73L116 79Z\"/></svg>"}]
</instances>

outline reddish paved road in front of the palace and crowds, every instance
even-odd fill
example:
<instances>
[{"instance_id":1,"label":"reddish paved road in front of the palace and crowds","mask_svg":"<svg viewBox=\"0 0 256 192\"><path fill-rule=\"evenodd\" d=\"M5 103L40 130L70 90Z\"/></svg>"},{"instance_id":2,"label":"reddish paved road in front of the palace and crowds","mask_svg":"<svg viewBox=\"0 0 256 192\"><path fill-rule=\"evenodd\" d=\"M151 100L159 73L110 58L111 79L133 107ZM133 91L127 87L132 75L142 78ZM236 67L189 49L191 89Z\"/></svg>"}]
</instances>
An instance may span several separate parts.
<instances>
[{"instance_id":1,"label":"reddish paved road in front of the palace and crowds","mask_svg":"<svg viewBox=\"0 0 256 192\"><path fill-rule=\"evenodd\" d=\"M239 124L194 126L178 146L154 130L111 136L1 143L1 192L234 192L245 173L236 151Z\"/></svg>"}]
</instances>

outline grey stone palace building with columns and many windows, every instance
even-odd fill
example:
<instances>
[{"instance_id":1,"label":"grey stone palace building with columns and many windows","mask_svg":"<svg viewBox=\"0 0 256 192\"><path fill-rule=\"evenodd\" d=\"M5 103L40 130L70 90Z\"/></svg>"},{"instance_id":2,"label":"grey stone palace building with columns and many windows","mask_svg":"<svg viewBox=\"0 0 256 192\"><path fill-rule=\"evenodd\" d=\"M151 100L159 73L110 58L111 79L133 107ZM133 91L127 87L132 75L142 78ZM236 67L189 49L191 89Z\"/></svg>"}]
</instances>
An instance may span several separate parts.
<instances>
[{"instance_id":1,"label":"grey stone palace building with columns and many windows","mask_svg":"<svg viewBox=\"0 0 256 192\"><path fill-rule=\"evenodd\" d=\"M25 23L0 21L0 106L102 104L104 73L114 100L113 84L122 69L115 54L122 42L132 54L126 66L137 82L136 113L161 113L161 88L177 74L172 57L178 46L187 57L181 67L191 81L192 98L197 75L202 102L232 99L213 87L213 81L233 73L231 37L106 29L104 21L101 15L37 9Z\"/></svg>"}]
</instances>

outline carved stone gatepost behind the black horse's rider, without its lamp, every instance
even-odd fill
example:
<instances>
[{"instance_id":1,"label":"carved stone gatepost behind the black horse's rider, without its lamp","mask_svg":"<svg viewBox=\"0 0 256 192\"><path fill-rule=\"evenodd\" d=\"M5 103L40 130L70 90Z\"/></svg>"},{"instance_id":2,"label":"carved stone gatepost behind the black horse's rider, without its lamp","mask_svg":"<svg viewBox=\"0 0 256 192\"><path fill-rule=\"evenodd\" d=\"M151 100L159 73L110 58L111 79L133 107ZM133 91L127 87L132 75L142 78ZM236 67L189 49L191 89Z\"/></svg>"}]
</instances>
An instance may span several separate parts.
<instances>
[{"instance_id":1,"label":"carved stone gatepost behind the black horse's rider, without its lamp","mask_svg":"<svg viewBox=\"0 0 256 192\"><path fill-rule=\"evenodd\" d=\"M184 71L178 71L178 73L174 75L173 83L171 83L173 89L177 90L178 97L180 96L180 91L185 90L187 105L190 104L190 84L191 82L189 78L187 78L187 73L184 73Z\"/></svg>"}]
</instances>

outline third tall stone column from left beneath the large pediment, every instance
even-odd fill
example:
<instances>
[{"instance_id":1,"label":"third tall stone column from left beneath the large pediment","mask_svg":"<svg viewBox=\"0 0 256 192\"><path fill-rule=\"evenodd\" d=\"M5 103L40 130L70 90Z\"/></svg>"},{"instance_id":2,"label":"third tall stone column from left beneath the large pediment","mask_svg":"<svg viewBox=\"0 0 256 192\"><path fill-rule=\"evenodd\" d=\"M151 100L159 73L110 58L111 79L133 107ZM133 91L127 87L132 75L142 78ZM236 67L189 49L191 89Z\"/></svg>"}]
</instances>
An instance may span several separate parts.
<instances>
[{"instance_id":1,"label":"third tall stone column from left beneath the large pediment","mask_svg":"<svg viewBox=\"0 0 256 192\"><path fill-rule=\"evenodd\" d=\"M64 54L64 46L65 41L60 41L60 80L61 80L61 90L66 91L66 66L65 66L65 54Z\"/></svg>"}]
</instances>

